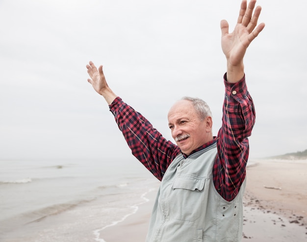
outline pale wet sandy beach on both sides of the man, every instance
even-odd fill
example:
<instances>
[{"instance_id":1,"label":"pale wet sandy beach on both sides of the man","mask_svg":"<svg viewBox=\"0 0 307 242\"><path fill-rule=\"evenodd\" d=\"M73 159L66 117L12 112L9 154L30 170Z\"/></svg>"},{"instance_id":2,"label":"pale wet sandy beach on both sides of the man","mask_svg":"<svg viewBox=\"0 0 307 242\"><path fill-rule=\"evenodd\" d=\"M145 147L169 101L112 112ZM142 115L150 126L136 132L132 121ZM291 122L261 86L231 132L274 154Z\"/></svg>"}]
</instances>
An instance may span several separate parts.
<instances>
[{"instance_id":1,"label":"pale wet sandy beach on both sides of the man","mask_svg":"<svg viewBox=\"0 0 307 242\"><path fill-rule=\"evenodd\" d=\"M155 193L134 215L104 229L105 242L145 241ZM307 161L256 161L247 168L242 242L307 241L306 204Z\"/></svg>"}]
</instances>

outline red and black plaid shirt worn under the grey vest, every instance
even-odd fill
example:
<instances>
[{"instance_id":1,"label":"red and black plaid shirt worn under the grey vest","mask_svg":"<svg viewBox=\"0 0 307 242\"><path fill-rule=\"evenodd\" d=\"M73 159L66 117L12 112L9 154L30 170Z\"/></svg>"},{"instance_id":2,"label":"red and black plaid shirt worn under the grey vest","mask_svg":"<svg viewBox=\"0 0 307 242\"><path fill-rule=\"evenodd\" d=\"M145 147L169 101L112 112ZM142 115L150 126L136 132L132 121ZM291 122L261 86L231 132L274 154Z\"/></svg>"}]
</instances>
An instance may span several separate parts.
<instances>
[{"instance_id":1,"label":"red and black plaid shirt worn under the grey vest","mask_svg":"<svg viewBox=\"0 0 307 242\"><path fill-rule=\"evenodd\" d=\"M249 155L248 138L255 123L255 108L247 91L245 77L238 83L225 84L222 127L214 139L192 153L217 144L218 154L213 166L213 182L217 192L227 201L238 194L245 179L245 168ZM110 111L122 131L132 154L153 175L162 177L181 151L177 145L167 141L140 113L117 97ZM191 154L192 154L191 153ZM190 154L190 155L191 155ZM186 158L187 156L183 154Z\"/></svg>"}]
</instances>

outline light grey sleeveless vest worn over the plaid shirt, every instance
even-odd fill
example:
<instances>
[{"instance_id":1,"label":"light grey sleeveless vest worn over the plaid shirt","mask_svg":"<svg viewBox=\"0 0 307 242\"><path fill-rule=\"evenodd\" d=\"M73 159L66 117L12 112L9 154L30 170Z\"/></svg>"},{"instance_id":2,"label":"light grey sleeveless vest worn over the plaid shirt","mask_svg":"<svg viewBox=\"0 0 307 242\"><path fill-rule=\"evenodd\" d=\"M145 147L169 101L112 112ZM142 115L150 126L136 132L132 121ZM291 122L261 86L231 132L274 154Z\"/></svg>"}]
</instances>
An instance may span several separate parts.
<instances>
[{"instance_id":1,"label":"light grey sleeveless vest worn over the plaid shirt","mask_svg":"<svg viewBox=\"0 0 307 242\"><path fill-rule=\"evenodd\" d=\"M166 170L153 207L146 242L240 242L243 182L230 202L217 193L212 168L216 143Z\"/></svg>"}]
</instances>

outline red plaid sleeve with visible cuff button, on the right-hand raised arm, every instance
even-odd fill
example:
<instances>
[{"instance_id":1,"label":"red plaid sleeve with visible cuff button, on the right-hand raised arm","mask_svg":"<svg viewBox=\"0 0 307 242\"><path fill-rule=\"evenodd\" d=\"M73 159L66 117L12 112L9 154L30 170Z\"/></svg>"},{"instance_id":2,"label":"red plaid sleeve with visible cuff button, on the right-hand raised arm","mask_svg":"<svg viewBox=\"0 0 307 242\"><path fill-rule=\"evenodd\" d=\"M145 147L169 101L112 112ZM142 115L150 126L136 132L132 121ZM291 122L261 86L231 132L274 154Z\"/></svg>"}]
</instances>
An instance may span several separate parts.
<instances>
[{"instance_id":1,"label":"red plaid sleeve with visible cuff button, on the right-hand raised arm","mask_svg":"<svg viewBox=\"0 0 307 242\"><path fill-rule=\"evenodd\" d=\"M255 108L247 91L245 77L238 83L225 83L223 124L217 136L218 155L213 168L214 186L227 201L238 194L245 179L249 156L248 137L255 123Z\"/></svg>"}]
</instances>

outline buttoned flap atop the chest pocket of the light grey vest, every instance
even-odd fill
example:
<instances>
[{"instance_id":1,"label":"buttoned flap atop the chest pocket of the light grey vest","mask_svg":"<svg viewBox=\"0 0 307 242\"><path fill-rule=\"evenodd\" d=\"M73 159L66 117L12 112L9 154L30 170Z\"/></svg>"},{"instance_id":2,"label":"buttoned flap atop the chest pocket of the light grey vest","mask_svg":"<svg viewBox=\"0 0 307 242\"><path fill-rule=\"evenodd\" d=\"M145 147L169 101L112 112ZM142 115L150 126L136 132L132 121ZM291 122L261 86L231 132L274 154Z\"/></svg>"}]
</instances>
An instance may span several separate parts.
<instances>
[{"instance_id":1,"label":"buttoned flap atop the chest pocket of the light grey vest","mask_svg":"<svg viewBox=\"0 0 307 242\"><path fill-rule=\"evenodd\" d=\"M203 191L205 187L205 177L194 175L178 176L176 177L172 188L186 189L190 191Z\"/></svg>"}]
</instances>

